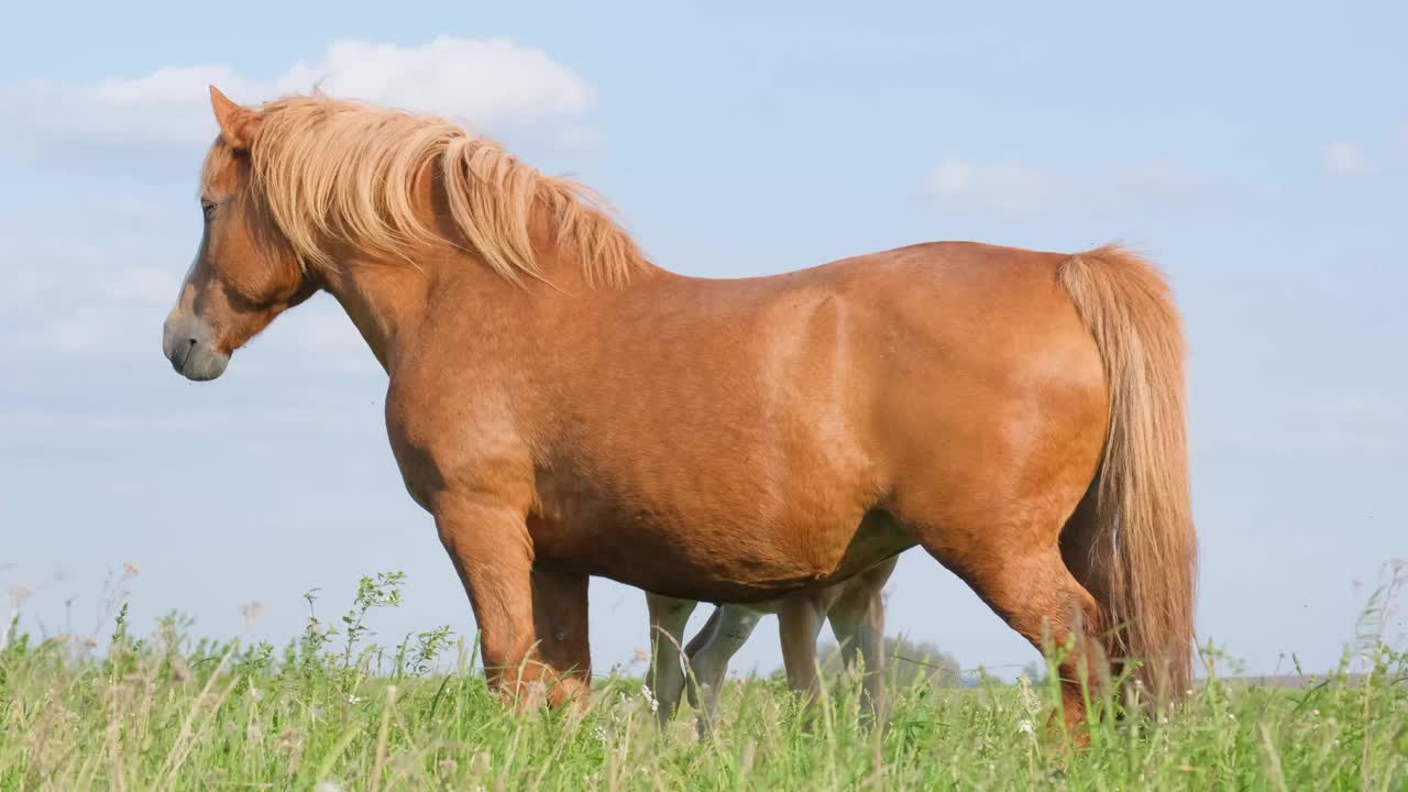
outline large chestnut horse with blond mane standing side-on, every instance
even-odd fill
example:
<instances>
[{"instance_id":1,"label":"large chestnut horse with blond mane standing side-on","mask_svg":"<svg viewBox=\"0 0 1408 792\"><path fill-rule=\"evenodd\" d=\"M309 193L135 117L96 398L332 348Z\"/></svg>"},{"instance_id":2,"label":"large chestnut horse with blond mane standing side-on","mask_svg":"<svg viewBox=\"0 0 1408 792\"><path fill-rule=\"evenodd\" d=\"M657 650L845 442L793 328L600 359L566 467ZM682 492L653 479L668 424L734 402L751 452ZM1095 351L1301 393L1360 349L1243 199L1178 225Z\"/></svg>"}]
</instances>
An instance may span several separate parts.
<instances>
[{"instance_id":1,"label":"large chestnut horse with blond mane standing side-on","mask_svg":"<svg viewBox=\"0 0 1408 792\"><path fill-rule=\"evenodd\" d=\"M214 379L331 293L389 375L391 450L505 696L584 693L589 575L749 603L914 545L1033 644L1074 647L1067 723L1107 658L1187 686L1183 335L1136 255L949 242L684 278L459 125L211 99L166 357Z\"/></svg>"}]
</instances>

